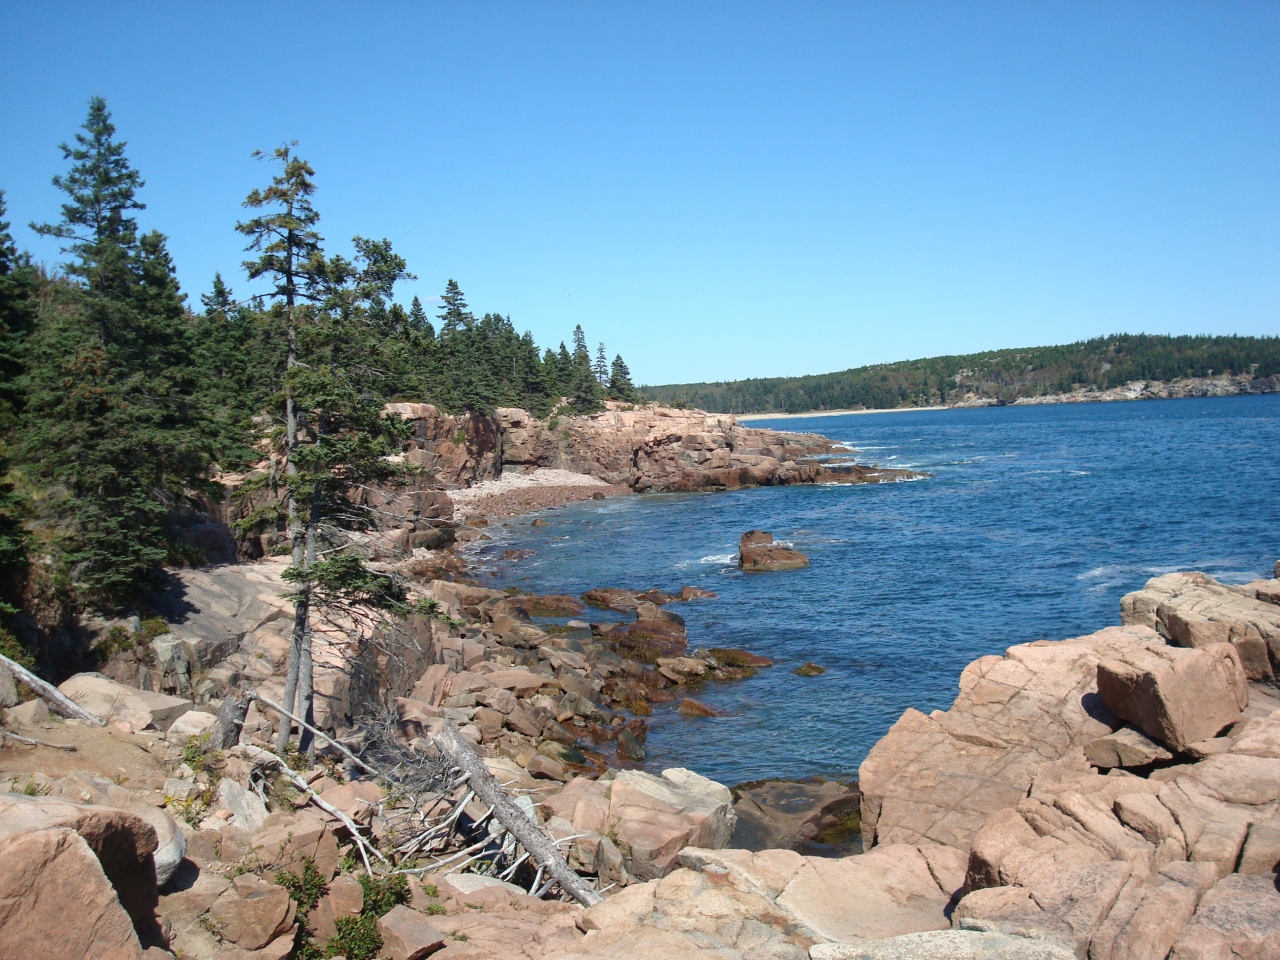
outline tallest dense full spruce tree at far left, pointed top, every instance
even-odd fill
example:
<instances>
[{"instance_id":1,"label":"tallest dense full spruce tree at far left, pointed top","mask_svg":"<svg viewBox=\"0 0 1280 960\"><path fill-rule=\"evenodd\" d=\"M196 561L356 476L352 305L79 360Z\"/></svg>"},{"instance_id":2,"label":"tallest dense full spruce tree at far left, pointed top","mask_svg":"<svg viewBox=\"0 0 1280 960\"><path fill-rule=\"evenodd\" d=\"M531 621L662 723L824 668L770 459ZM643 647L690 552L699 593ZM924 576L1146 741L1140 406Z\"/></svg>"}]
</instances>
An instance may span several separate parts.
<instances>
[{"instance_id":1,"label":"tallest dense full spruce tree at far left, pointed top","mask_svg":"<svg viewBox=\"0 0 1280 960\"><path fill-rule=\"evenodd\" d=\"M193 404L183 297L163 234L137 236L141 177L114 140L110 113L90 102L58 224L73 282L51 282L27 352L18 454L59 495L60 570L77 600L115 607L145 590L173 556L169 513L204 483L207 444ZM79 280L77 284L74 280Z\"/></svg>"}]
</instances>

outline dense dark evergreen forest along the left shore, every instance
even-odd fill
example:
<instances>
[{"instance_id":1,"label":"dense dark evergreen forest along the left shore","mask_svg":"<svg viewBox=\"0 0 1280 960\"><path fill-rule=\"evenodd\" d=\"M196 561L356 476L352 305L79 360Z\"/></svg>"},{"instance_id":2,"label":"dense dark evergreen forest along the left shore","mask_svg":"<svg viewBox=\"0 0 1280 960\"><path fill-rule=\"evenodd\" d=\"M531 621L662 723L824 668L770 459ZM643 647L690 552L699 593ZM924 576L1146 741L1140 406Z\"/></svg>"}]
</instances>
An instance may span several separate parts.
<instances>
[{"instance_id":1,"label":"dense dark evergreen forest along the left shore","mask_svg":"<svg viewBox=\"0 0 1280 960\"><path fill-rule=\"evenodd\" d=\"M20 252L0 192L0 612L10 617L47 625L127 608L163 564L191 559L174 517L220 497L219 470L264 457L278 468L261 483L294 531L300 595L367 599L387 585L316 559L315 530L358 522L340 506L346 489L376 479L399 449L383 403L547 415L561 398L566 412L590 412L635 397L622 357L611 364L603 343L593 357L581 326L571 347L541 349L509 317L472 314L453 280L434 316L416 297L397 300L408 264L388 239L326 246L315 173L292 146L261 156L264 186L248 191L242 223L209 225L238 230L247 260L210 278L197 303L179 291L165 236L140 225L145 184L101 99L61 152L54 184L65 202L31 224L63 242L59 266ZM252 296L233 289L246 284Z\"/></svg>"}]
</instances>

